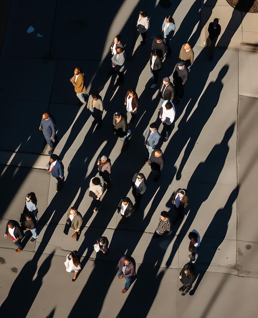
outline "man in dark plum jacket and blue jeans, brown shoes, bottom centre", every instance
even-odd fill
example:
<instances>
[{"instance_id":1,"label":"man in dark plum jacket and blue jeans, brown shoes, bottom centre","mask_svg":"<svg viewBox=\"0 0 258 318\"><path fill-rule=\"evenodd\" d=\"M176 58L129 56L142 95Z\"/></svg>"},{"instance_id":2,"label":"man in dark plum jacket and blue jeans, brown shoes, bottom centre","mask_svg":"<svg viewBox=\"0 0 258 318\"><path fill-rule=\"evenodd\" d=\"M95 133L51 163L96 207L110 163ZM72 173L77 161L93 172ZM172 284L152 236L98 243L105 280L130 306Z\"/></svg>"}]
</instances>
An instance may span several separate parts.
<instances>
[{"instance_id":1,"label":"man in dark plum jacket and blue jeans, brown shoes, bottom centre","mask_svg":"<svg viewBox=\"0 0 258 318\"><path fill-rule=\"evenodd\" d=\"M130 288L134 278L136 276L136 264L135 259L132 256L123 255L118 262L118 279L125 278L126 283L122 294L125 294Z\"/></svg>"}]
</instances>

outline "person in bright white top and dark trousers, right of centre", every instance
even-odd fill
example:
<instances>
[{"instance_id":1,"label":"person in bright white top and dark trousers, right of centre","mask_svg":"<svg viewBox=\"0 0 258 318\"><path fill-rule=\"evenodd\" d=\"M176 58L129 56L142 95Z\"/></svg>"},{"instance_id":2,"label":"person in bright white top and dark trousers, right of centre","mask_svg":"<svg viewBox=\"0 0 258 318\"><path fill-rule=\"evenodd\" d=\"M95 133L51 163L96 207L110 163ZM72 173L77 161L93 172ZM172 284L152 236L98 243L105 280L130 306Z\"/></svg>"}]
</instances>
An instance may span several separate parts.
<instances>
[{"instance_id":1,"label":"person in bright white top and dark trousers, right of centre","mask_svg":"<svg viewBox=\"0 0 258 318\"><path fill-rule=\"evenodd\" d=\"M171 133L172 123L175 120L176 109L171 101L165 101L162 104L159 112L159 118L163 123L163 131L161 136L164 138L163 142L167 142L169 139L169 134Z\"/></svg>"}]
</instances>

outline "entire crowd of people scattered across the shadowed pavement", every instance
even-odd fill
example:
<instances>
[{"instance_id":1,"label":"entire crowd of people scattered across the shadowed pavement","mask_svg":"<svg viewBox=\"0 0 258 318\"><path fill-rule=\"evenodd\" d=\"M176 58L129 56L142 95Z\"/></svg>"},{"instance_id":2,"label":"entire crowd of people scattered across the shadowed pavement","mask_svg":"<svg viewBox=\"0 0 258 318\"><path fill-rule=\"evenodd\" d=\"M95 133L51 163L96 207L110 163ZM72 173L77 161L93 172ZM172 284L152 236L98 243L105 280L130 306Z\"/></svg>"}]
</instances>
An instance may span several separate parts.
<instances>
[{"instance_id":1,"label":"entire crowd of people scattered across the shadowed pavement","mask_svg":"<svg viewBox=\"0 0 258 318\"><path fill-rule=\"evenodd\" d=\"M141 10L139 18L136 24L142 41L140 47L146 45L147 31L150 27L150 20L147 13ZM212 59L214 47L218 36L220 34L221 27L218 24L218 19L214 19L209 24L209 37L207 39L207 45L209 47L210 59ZM170 41L175 33L175 21L171 15L165 17L162 27L160 29L161 34L157 35L152 42L150 52L150 71L152 74L153 83L150 86L154 88L158 83L158 73L163 69L163 63L166 58L171 54ZM111 47L112 54L112 68L110 73L116 73L118 76L116 85L119 86L124 81L125 71L125 49L121 43L121 37L117 35L114 38L114 42ZM178 56L178 62L176 63L173 72L173 83L167 76L164 77L160 83L158 89L158 97L161 102L158 118L163 124L163 131L161 134L157 131L156 122L150 123L145 134L144 145L148 150L148 157L145 163L151 168L154 176L154 182L157 182L160 178L161 172L164 168L164 154L161 149L157 148L160 138L163 142L167 142L172 130L172 124L175 120L176 107L175 104L179 104L182 101L184 94L184 86L188 79L190 68L194 61L194 52L189 42L182 45ZM86 86L84 84L85 76L83 70L80 67L74 69L74 75L70 79L74 86L77 98L82 103L82 106L86 106L90 114L93 117L92 124L96 124L96 129L100 129L102 126L103 115L103 99L99 92L94 90L90 94L86 93ZM124 106L126 113L131 114L130 122L136 119L137 111L139 108L139 99L137 92L134 88L127 90L124 98ZM127 135L130 134L128 128L127 116L120 111L115 111L113 114L113 132L123 141L123 148L126 149L129 140ZM49 145L49 169L51 175L57 179L56 192L59 192L64 183L64 167L61 159L58 155L54 154L54 147L56 145L56 129L54 119L48 112L43 113L40 122L39 130L42 131L46 142ZM101 207L101 198L104 192L111 187L111 160L107 155L103 154L96 163L99 176L92 177L89 182L89 197L92 198L94 205L93 212L98 212ZM117 213L121 215L119 224L125 222L129 217L136 213L141 207L142 196L147 190L147 180L143 173L136 172L132 177L132 195L134 197L134 203L129 197L123 197L117 204ZM176 218L171 222L169 213L162 211L160 213L158 225L156 231L153 234L154 238L166 237L172 234L172 224L175 225L184 215L184 210L188 205L187 190L178 188L172 198L172 206L176 211ZM8 234L12 238L14 244L17 246L15 252L21 252L24 247L24 238L32 236L30 242L34 242L38 238L37 232L38 222L38 208L37 198L35 193L31 192L26 195L24 210L20 216L20 222L16 220L9 220L6 226L6 232L4 237L7 238ZM83 224L83 216L78 211L77 207L72 206L67 213L66 225L64 227L64 234L68 235L70 228L73 230L72 238L79 239ZM195 266L194 263L197 257L197 249L200 245L200 235L196 230L192 230L189 235L189 248L191 254L188 256L189 262L184 265L180 271L179 278L182 282L182 287L179 289L182 291L182 295L185 295L191 288L192 282L195 278ZM106 255L109 247L109 240L107 237L102 236L96 239L96 243L93 245L96 252L101 252ZM77 279L77 275L81 270L80 257L76 250L71 251L66 257L64 262L66 270L73 272L74 276L72 281ZM125 278L125 287L122 293L130 288L130 285L136 278L136 262L132 256L123 255L118 262L118 279Z\"/></svg>"}]
</instances>

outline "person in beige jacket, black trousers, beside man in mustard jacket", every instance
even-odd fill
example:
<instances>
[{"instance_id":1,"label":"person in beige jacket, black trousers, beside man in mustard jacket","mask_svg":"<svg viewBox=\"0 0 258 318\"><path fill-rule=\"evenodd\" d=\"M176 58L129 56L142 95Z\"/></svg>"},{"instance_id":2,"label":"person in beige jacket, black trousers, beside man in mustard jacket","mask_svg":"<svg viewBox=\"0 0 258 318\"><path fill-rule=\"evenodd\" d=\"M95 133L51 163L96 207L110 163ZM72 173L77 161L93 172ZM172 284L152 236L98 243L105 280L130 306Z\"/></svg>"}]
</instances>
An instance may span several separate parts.
<instances>
[{"instance_id":1,"label":"person in beige jacket, black trousers, beside man in mustard jacket","mask_svg":"<svg viewBox=\"0 0 258 318\"><path fill-rule=\"evenodd\" d=\"M102 114L103 114L103 101L97 90L94 90L88 99L87 109L90 111L91 116L94 118L92 125L97 123L96 129L102 126Z\"/></svg>"}]
</instances>

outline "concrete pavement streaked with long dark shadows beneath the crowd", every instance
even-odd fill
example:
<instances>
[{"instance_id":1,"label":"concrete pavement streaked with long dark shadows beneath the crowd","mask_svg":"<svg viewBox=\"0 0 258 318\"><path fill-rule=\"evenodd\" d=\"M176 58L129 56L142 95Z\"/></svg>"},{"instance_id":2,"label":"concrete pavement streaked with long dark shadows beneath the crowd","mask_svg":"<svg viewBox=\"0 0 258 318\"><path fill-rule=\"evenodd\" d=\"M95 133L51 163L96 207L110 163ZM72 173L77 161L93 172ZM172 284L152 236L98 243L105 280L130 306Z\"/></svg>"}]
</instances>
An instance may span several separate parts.
<instances>
[{"instance_id":1,"label":"concrete pavement streaked with long dark shadows beneath the crowd","mask_svg":"<svg viewBox=\"0 0 258 318\"><path fill-rule=\"evenodd\" d=\"M10 237L0 236L0 313L7 314L11 306L12 313L22 317L74 317L82 313L105 318L184 318L189 314L254 317L258 287L254 226L257 53L222 46L215 49L210 62L202 47L206 21L199 2L183 1L170 9L156 6L156 1L139 1L134 6L129 0L111 3L101 2L102 12L109 14L98 22L103 33L92 49L92 25L96 23L92 13L99 12L100 3L89 7L80 2L79 10L70 2L27 1L21 6L12 1L0 57L0 132L4 137L0 140L0 232L4 234L8 219L19 220L26 194L34 191L40 233L37 241L28 242L18 255ZM134 23L142 8L151 16L151 28L146 45L138 48ZM173 54L164 62L159 79L171 76L179 49L188 38L195 62L183 101L176 107L170 139L160 144L166 165L162 178L154 183L144 164L147 150L143 135L148 124L156 120L160 104L157 90L150 89L148 60L151 41L171 13L175 13L177 28L171 44ZM249 15L244 15L242 23ZM214 17L211 10L207 19ZM43 38L26 34L29 25ZM125 83L114 89L114 78L107 73L109 47L118 33L126 44L127 72ZM12 41L14 35L17 41ZM223 35L222 43L230 43ZM78 43L79 47L75 46ZM77 105L69 82L78 62L86 73L87 91L99 89L104 99L104 123L98 131L92 128L88 111ZM10 83L16 84L15 89ZM131 126L131 144L121 152L111 120L114 111L123 110L125 92L132 86L136 87L140 108L138 120ZM38 126L46 110L56 120L60 141L55 153L65 167L66 182L57 194L55 179L46 171L49 156L41 154L43 136ZM88 183L97 173L96 160L104 153L111 158L113 186L102 199L103 208L93 213ZM141 209L118 226L116 206L123 196L133 199L131 179L137 171L147 177L147 192ZM172 219L175 217L171 197L178 187L188 190L187 213L181 224L173 226L171 238L154 240L152 233L160 212L166 210ZM77 242L71 238L72 231L69 236L63 234L72 205L84 216ZM192 229L197 229L202 239L196 262L199 275L192 291L182 297L178 274L188 262L187 235ZM105 258L93 250L95 239L103 234L110 241ZM73 249L82 256L83 266L76 282L63 265ZM123 253L135 258L138 274L125 295L121 294L124 281L116 278Z\"/></svg>"}]
</instances>

